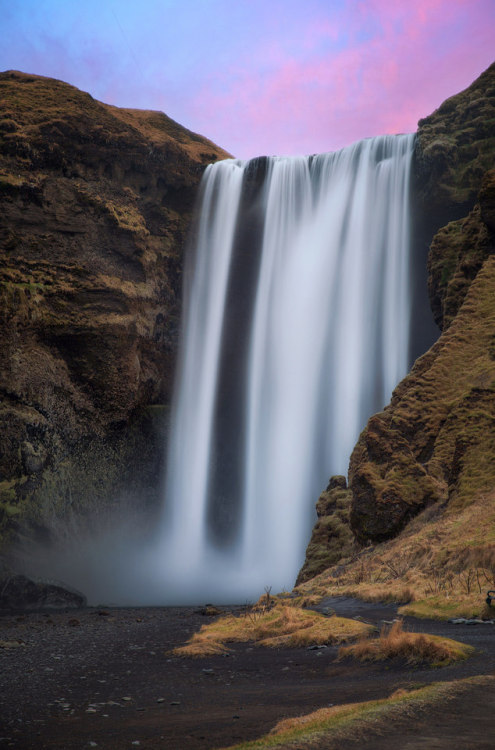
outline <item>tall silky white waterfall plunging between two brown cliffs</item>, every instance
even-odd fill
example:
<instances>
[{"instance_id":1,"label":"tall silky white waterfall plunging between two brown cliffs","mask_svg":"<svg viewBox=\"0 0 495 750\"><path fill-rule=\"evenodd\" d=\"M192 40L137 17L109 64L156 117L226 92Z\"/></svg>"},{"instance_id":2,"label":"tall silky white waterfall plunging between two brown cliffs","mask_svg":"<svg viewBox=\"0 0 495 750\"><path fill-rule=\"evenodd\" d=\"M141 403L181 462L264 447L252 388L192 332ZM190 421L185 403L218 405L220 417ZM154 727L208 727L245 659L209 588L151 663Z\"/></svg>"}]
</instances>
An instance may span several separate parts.
<instances>
[{"instance_id":1,"label":"tall silky white waterfall plunging between two brown cliffs","mask_svg":"<svg viewBox=\"0 0 495 750\"><path fill-rule=\"evenodd\" d=\"M290 588L320 491L405 375L413 145L207 168L160 532L173 601Z\"/></svg>"}]
</instances>

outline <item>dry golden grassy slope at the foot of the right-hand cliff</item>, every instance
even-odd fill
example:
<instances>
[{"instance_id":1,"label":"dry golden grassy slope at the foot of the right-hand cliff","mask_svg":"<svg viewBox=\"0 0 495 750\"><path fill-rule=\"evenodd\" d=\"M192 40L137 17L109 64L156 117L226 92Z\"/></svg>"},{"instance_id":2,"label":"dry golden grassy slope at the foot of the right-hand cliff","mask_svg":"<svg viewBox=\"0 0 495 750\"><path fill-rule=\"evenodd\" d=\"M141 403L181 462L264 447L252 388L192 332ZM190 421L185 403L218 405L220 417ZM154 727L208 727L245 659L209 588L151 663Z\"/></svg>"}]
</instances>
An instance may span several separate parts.
<instances>
[{"instance_id":1,"label":"dry golden grassy slope at the foot of the right-hand cliff","mask_svg":"<svg viewBox=\"0 0 495 750\"><path fill-rule=\"evenodd\" d=\"M485 606L495 589L495 492L463 508L431 506L395 539L301 584L301 596L353 596L397 602L404 615L448 619L495 617Z\"/></svg>"}]
</instances>

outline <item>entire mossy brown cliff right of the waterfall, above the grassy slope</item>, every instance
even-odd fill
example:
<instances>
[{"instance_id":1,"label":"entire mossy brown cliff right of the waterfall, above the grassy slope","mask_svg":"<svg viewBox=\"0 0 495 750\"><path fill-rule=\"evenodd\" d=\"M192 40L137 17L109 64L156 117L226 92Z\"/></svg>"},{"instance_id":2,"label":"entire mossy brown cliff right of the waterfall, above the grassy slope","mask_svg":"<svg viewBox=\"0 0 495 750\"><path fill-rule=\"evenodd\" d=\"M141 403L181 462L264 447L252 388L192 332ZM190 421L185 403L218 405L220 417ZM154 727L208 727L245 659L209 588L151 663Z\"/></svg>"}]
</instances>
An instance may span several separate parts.
<instances>
[{"instance_id":1,"label":"entire mossy brown cliff right of the waterfall, above the grassy slope","mask_svg":"<svg viewBox=\"0 0 495 750\"><path fill-rule=\"evenodd\" d=\"M350 526L359 544L395 537L429 506L460 512L495 487L494 156L492 65L419 122L413 215L416 236L430 245L428 290L442 334L352 453ZM300 581L309 568L323 570L311 563L311 544Z\"/></svg>"}]
</instances>

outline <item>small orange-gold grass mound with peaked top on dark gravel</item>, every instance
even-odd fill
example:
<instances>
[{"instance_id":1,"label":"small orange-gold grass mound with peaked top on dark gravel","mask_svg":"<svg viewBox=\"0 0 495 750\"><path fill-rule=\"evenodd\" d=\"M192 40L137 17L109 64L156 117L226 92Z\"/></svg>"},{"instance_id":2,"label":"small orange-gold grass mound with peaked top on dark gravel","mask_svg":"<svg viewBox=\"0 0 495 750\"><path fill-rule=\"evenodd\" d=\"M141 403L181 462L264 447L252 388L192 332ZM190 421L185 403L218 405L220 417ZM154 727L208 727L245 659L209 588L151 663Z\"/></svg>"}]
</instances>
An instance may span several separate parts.
<instances>
[{"instance_id":1,"label":"small orange-gold grass mound with peaked top on dark gravel","mask_svg":"<svg viewBox=\"0 0 495 750\"><path fill-rule=\"evenodd\" d=\"M339 659L354 657L360 661L405 659L409 664L430 662L433 666L446 666L466 659L474 649L464 643L428 633L410 633L398 620L384 627L379 638L362 639L339 649Z\"/></svg>"}]
</instances>

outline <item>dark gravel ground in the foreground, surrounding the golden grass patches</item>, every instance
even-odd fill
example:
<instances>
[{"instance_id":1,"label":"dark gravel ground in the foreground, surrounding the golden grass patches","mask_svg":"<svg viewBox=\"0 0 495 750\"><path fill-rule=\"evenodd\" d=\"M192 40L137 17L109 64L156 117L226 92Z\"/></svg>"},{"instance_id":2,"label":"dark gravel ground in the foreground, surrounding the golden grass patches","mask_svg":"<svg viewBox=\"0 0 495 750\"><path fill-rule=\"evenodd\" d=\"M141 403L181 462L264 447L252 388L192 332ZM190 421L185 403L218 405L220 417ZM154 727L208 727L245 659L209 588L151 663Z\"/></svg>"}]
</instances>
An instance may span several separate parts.
<instances>
[{"instance_id":1,"label":"dark gravel ground in the foreground, surrounding the golden grass patches","mask_svg":"<svg viewBox=\"0 0 495 750\"><path fill-rule=\"evenodd\" d=\"M395 614L354 600L325 604L375 623ZM472 643L477 654L443 670L336 663L334 648L239 644L227 657L171 657L168 651L206 621L190 608L0 616L0 641L26 644L0 648L0 748L207 750L254 739L283 717L322 706L495 672L493 625L412 620L416 630Z\"/></svg>"}]
</instances>

